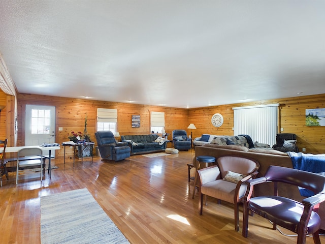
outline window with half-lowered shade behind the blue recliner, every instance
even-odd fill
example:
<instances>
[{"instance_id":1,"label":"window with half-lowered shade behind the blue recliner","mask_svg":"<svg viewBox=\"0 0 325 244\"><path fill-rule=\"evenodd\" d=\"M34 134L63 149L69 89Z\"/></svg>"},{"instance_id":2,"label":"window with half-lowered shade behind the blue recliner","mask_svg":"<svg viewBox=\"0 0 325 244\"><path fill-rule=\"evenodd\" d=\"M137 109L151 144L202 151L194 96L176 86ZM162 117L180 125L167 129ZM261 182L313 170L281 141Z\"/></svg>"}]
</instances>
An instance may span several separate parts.
<instances>
[{"instance_id":1,"label":"window with half-lowered shade behind the blue recliner","mask_svg":"<svg viewBox=\"0 0 325 244\"><path fill-rule=\"evenodd\" d=\"M98 108L97 109L97 130L111 131L116 133L117 109Z\"/></svg>"}]
</instances>

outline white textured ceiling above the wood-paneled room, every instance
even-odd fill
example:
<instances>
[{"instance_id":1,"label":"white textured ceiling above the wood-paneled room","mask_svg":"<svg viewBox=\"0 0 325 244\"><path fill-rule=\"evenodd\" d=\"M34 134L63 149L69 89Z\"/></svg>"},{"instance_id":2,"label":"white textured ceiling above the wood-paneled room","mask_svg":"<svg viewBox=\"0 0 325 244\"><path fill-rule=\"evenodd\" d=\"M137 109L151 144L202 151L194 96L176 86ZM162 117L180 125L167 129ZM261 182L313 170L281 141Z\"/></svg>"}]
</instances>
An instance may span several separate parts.
<instances>
[{"instance_id":1,"label":"white textured ceiling above the wood-paneled room","mask_svg":"<svg viewBox=\"0 0 325 244\"><path fill-rule=\"evenodd\" d=\"M19 93L179 108L323 94L325 1L0 0L0 52Z\"/></svg>"}]
</instances>

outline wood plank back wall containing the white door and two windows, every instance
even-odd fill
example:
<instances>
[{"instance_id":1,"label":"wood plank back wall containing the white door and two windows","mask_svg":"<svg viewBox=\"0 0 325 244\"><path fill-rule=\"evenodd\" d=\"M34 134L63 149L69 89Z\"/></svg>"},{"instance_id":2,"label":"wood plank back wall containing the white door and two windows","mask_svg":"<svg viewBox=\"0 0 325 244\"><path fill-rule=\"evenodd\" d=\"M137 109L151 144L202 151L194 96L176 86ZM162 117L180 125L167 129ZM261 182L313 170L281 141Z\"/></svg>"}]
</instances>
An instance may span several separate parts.
<instances>
[{"instance_id":1,"label":"wood plank back wall containing the white door and two windows","mask_svg":"<svg viewBox=\"0 0 325 244\"><path fill-rule=\"evenodd\" d=\"M188 127L188 110L159 107L150 105L139 105L132 103L116 103L94 101L86 99L61 98L40 95L18 95L18 145L23 145L25 138L25 106L26 104L47 105L56 107L56 142L68 141L68 134L71 131L83 132L85 126L85 116L87 115L87 132L91 139L95 141L96 114L97 108L117 109L117 131L120 135L142 135L150 133L150 113L151 111L165 112L166 133L172 133L175 129L186 129ZM140 115L140 127L132 128L132 115ZM62 131L58 128L62 127ZM171 139L171 135L169 139ZM68 147L66 149L69 149ZM63 149L56 151L57 157L63 156ZM68 154L69 152L67 152Z\"/></svg>"}]
</instances>

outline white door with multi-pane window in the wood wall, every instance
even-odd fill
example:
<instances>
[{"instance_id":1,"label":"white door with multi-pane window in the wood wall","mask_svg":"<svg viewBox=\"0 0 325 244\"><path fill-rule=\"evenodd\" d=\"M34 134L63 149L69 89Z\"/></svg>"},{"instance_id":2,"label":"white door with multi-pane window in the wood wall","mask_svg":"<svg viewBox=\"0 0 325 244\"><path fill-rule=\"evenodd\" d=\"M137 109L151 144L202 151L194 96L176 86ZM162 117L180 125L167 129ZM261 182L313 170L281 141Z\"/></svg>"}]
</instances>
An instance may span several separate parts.
<instances>
[{"instance_id":1,"label":"white door with multi-pane window in the wood wall","mask_svg":"<svg viewBox=\"0 0 325 244\"><path fill-rule=\"evenodd\" d=\"M25 145L43 143L55 143L55 107L26 105Z\"/></svg>"}]
</instances>

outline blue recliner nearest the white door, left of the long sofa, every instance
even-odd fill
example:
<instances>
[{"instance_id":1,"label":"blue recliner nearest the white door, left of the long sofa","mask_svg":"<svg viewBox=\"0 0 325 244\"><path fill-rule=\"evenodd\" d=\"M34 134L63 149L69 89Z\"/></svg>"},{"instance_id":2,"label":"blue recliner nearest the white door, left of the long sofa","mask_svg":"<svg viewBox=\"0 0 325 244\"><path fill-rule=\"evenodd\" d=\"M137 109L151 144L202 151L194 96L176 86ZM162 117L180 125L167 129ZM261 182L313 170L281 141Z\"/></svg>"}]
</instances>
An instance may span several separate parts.
<instances>
[{"instance_id":1,"label":"blue recliner nearest the white door, left of the long sofa","mask_svg":"<svg viewBox=\"0 0 325 244\"><path fill-rule=\"evenodd\" d=\"M130 157L131 148L125 142L116 142L111 131L95 133L102 159L119 161Z\"/></svg>"}]
</instances>

